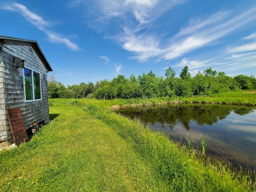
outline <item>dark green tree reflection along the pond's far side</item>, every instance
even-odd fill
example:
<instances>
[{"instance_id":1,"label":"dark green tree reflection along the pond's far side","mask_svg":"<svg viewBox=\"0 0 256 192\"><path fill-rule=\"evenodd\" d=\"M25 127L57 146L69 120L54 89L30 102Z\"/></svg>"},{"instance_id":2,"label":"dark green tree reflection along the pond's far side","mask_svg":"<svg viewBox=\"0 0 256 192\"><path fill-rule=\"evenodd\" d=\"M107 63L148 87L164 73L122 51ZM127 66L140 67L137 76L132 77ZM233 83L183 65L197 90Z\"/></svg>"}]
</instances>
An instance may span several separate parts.
<instances>
[{"instance_id":1,"label":"dark green tree reflection along the pond's far side","mask_svg":"<svg viewBox=\"0 0 256 192\"><path fill-rule=\"evenodd\" d=\"M255 110L252 106L214 105L214 104L172 104L160 106L147 106L138 108L121 108L121 114L134 118L140 117L145 124L154 125L159 122L162 126L174 128L177 122L182 123L186 130L190 129L190 122L194 121L200 126L217 123L225 119L230 112L245 115Z\"/></svg>"}]
</instances>

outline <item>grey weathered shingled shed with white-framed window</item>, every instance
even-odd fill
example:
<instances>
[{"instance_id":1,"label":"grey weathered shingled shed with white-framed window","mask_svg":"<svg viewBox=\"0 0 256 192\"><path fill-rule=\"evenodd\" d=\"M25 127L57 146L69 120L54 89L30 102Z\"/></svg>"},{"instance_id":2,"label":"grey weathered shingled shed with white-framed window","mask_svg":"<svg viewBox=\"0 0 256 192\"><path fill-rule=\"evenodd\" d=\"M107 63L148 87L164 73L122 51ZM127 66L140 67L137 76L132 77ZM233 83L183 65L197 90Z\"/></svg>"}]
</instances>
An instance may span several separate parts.
<instances>
[{"instance_id":1,"label":"grey weathered shingled shed with white-framed window","mask_svg":"<svg viewBox=\"0 0 256 192\"><path fill-rule=\"evenodd\" d=\"M0 141L12 141L8 108L20 108L26 129L48 122L49 71L36 41L0 36Z\"/></svg>"}]
</instances>

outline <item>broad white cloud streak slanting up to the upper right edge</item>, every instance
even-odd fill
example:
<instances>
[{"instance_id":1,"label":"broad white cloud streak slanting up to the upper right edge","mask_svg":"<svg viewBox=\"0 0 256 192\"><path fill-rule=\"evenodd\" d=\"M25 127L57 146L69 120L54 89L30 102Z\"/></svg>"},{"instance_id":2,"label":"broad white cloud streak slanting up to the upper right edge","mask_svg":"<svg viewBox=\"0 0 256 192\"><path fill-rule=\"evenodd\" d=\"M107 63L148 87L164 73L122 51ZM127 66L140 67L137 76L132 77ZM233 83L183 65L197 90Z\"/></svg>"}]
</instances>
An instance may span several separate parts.
<instances>
[{"instance_id":1,"label":"broad white cloud streak slanting up to the upper right edge","mask_svg":"<svg viewBox=\"0 0 256 192\"><path fill-rule=\"evenodd\" d=\"M228 14L219 12L214 14L218 19L213 22L212 16L201 22L190 23L187 28L181 29L177 36L174 36L174 41L170 47L166 48L164 58L166 60L174 59L183 54L190 52L196 48L208 46L212 42L234 32L238 28L245 26L256 19L256 7L246 10L236 16L228 17ZM214 24L213 24L214 23ZM188 35L178 39L179 36Z\"/></svg>"}]
</instances>

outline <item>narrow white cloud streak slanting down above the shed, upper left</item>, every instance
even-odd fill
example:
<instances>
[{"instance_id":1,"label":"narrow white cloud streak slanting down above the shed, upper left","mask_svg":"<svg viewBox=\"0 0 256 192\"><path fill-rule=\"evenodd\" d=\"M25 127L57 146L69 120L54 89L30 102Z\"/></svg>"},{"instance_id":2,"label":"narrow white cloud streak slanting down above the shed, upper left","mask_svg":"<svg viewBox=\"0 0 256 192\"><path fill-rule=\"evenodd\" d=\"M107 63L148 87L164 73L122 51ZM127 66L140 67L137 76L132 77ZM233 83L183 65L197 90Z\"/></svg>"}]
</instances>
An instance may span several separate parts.
<instances>
[{"instance_id":1,"label":"narrow white cloud streak slanting down above the shed, upper left","mask_svg":"<svg viewBox=\"0 0 256 192\"><path fill-rule=\"evenodd\" d=\"M8 4L2 4L2 6L0 6L0 9L18 12L28 22L36 26L39 30L43 31L48 36L48 40L50 40L51 42L64 44L70 50L80 50L79 46L74 42L70 41L68 38L62 36L61 34L48 30L47 27L49 27L51 23L44 20L41 16L37 15L36 13L30 11L23 4L11 2Z\"/></svg>"}]
</instances>

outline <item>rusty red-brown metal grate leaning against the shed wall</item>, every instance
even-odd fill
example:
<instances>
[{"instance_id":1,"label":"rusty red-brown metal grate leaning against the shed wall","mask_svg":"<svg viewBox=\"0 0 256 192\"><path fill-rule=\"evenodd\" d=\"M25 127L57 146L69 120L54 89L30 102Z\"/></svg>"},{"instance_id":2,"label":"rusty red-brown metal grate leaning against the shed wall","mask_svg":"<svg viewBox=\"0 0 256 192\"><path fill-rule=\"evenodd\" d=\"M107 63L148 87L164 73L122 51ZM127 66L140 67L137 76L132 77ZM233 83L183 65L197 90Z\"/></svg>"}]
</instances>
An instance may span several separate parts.
<instances>
[{"instance_id":1,"label":"rusty red-brown metal grate leaning against the shed wall","mask_svg":"<svg viewBox=\"0 0 256 192\"><path fill-rule=\"evenodd\" d=\"M20 108L9 108L6 109L12 138L16 145L21 144L24 141L28 141L28 135L24 125Z\"/></svg>"}]
</instances>

